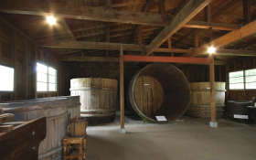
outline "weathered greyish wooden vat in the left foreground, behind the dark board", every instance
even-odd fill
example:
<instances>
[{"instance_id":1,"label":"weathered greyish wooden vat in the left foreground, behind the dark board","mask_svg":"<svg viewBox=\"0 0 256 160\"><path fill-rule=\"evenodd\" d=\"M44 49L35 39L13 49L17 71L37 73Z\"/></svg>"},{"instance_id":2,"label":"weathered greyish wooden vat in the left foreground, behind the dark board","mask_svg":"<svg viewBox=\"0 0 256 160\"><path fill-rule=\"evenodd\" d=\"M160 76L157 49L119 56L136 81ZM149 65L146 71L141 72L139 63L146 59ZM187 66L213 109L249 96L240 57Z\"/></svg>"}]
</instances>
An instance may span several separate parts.
<instances>
[{"instance_id":1,"label":"weathered greyish wooden vat in the left foreground, behind the dark board","mask_svg":"<svg viewBox=\"0 0 256 160\"><path fill-rule=\"evenodd\" d=\"M52 97L0 103L5 112L15 114L16 121L47 117L47 135L39 144L39 160L61 159L62 139L69 119L80 116L80 97Z\"/></svg>"}]
</instances>

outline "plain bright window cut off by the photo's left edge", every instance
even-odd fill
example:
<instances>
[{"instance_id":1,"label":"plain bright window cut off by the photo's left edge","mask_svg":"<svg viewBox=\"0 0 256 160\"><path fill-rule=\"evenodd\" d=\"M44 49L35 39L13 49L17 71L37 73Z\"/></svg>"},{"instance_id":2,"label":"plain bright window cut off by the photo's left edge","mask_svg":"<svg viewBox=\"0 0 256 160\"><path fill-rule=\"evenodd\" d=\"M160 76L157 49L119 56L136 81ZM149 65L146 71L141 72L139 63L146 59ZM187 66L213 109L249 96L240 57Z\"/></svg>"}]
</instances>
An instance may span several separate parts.
<instances>
[{"instance_id":1,"label":"plain bright window cut off by the photo's left edge","mask_svg":"<svg viewBox=\"0 0 256 160\"><path fill-rule=\"evenodd\" d=\"M14 91L15 69L0 65L0 91Z\"/></svg>"}]
</instances>

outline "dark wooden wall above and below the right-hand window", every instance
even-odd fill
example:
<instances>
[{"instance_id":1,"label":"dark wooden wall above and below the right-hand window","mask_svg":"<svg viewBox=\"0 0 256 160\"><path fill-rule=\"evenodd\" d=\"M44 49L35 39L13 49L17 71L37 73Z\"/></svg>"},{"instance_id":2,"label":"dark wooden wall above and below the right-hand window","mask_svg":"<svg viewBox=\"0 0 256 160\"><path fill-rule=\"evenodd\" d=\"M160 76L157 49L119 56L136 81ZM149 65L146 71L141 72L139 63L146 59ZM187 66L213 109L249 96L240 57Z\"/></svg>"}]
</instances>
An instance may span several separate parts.
<instances>
[{"instance_id":1,"label":"dark wooden wall above and below the right-hand window","mask_svg":"<svg viewBox=\"0 0 256 160\"><path fill-rule=\"evenodd\" d=\"M227 65L227 73L229 71L238 71L242 69L256 69L256 58L236 58L230 59ZM227 74L227 81L229 81L229 74ZM227 91L227 100L251 100L256 97L256 90L239 90Z\"/></svg>"}]
</instances>

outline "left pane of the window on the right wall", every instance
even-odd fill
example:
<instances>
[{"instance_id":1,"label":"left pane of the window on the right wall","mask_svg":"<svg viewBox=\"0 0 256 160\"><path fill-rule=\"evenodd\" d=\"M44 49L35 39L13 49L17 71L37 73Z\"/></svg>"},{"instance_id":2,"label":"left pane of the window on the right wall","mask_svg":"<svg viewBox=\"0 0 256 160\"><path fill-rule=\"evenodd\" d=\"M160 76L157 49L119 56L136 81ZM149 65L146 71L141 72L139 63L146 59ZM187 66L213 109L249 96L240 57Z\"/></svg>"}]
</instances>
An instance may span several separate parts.
<instances>
[{"instance_id":1,"label":"left pane of the window on the right wall","mask_svg":"<svg viewBox=\"0 0 256 160\"><path fill-rule=\"evenodd\" d=\"M229 89L230 90L242 90L242 89L244 89L243 70L229 72Z\"/></svg>"}]
</instances>

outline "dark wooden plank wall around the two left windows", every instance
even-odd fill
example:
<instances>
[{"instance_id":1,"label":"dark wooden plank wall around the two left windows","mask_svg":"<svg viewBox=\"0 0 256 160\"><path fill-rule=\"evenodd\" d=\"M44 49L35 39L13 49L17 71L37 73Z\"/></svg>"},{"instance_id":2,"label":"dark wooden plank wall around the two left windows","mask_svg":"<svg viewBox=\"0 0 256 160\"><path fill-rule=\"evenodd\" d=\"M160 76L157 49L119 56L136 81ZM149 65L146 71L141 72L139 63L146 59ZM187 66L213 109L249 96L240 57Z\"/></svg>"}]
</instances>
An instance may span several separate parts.
<instances>
[{"instance_id":1,"label":"dark wooden plank wall around the two left windows","mask_svg":"<svg viewBox=\"0 0 256 160\"><path fill-rule=\"evenodd\" d=\"M36 92L36 62L44 62L60 71L60 63L47 50L36 48L33 41L0 18L0 65L15 69L15 91L0 92L0 101L48 97L55 94ZM60 74L59 74L60 75ZM61 87L59 87L61 92Z\"/></svg>"}]
</instances>

